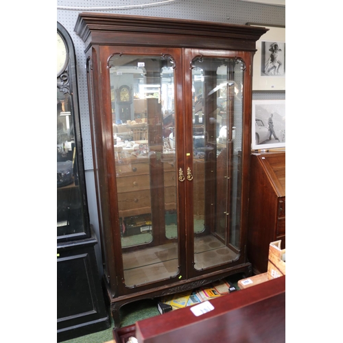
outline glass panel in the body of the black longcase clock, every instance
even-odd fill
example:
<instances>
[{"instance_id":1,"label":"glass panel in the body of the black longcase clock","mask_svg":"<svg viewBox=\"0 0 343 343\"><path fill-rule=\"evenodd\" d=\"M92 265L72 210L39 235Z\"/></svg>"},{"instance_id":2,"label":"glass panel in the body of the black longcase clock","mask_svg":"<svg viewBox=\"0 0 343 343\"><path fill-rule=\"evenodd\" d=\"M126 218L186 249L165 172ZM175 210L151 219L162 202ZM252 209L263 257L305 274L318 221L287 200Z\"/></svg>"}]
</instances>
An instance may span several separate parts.
<instances>
[{"instance_id":1,"label":"glass panel in the body of the black longcase clock","mask_svg":"<svg viewBox=\"0 0 343 343\"><path fill-rule=\"evenodd\" d=\"M57 90L57 235L84 231L71 95Z\"/></svg>"}]
</instances>

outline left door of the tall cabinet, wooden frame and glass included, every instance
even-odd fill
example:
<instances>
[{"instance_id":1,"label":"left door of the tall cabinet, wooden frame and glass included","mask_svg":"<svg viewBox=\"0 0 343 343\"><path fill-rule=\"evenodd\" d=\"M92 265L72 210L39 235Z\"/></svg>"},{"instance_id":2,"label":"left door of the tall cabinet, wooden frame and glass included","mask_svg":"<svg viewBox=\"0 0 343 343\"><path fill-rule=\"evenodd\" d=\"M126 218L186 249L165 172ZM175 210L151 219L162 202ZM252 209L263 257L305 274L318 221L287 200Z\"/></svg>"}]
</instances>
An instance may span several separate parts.
<instances>
[{"instance_id":1,"label":"left door of the tall cabinet, wooden frame and glass included","mask_svg":"<svg viewBox=\"0 0 343 343\"><path fill-rule=\"evenodd\" d=\"M176 148L184 130L181 50L100 47L92 55L88 85L105 273L125 295L185 276L182 150Z\"/></svg>"}]
</instances>

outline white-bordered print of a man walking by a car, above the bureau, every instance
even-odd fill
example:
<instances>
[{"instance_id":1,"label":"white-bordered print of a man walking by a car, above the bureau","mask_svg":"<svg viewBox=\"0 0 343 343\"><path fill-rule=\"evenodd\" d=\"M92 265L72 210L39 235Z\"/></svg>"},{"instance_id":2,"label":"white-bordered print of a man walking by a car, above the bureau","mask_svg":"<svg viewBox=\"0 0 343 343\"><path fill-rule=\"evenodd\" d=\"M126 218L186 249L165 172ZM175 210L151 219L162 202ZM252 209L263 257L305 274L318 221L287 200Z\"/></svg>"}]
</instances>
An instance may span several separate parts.
<instances>
[{"instance_id":1,"label":"white-bordered print of a man walking by a car, above the bureau","mask_svg":"<svg viewBox=\"0 0 343 343\"><path fill-rule=\"evenodd\" d=\"M285 100L252 100L252 150L286 146Z\"/></svg>"}]
</instances>

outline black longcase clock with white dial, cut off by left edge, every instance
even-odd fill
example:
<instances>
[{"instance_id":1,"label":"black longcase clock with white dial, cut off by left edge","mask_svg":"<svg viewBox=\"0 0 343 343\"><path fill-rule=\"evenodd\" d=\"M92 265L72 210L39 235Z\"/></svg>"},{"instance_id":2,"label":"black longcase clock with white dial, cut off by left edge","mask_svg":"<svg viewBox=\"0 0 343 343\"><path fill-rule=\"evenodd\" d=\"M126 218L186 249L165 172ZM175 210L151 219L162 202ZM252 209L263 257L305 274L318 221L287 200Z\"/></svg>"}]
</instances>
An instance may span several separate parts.
<instances>
[{"instance_id":1,"label":"black longcase clock with white dial, cut off by left edge","mask_svg":"<svg viewBox=\"0 0 343 343\"><path fill-rule=\"evenodd\" d=\"M89 222L73 41L57 23L57 338L108 329Z\"/></svg>"}]
</instances>

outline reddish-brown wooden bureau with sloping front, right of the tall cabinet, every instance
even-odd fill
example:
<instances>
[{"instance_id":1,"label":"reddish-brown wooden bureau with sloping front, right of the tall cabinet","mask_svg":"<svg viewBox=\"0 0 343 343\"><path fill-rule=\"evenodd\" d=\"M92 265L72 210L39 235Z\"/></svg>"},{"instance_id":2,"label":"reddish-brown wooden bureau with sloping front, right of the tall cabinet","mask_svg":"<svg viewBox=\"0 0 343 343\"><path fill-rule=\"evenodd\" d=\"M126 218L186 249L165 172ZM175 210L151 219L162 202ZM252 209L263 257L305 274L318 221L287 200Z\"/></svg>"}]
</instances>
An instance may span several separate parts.
<instances>
[{"instance_id":1,"label":"reddish-brown wooden bureau with sloping front, right of the tall cabinet","mask_svg":"<svg viewBox=\"0 0 343 343\"><path fill-rule=\"evenodd\" d=\"M272 241L285 248L285 152L252 154L248 224L248 259L255 274L267 272Z\"/></svg>"}]
</instances>

